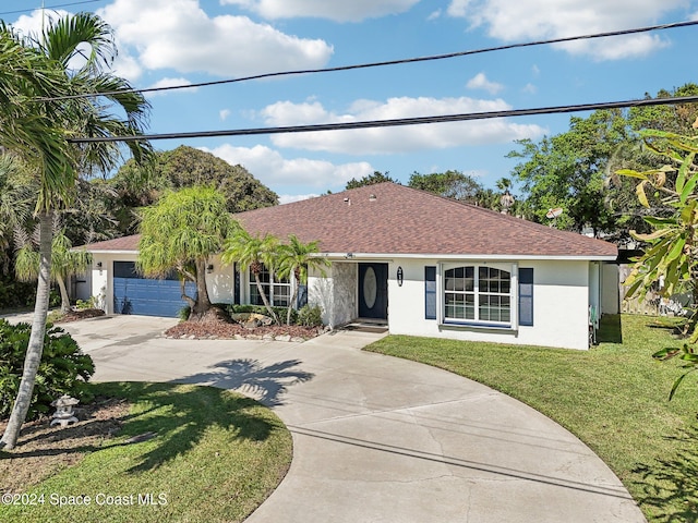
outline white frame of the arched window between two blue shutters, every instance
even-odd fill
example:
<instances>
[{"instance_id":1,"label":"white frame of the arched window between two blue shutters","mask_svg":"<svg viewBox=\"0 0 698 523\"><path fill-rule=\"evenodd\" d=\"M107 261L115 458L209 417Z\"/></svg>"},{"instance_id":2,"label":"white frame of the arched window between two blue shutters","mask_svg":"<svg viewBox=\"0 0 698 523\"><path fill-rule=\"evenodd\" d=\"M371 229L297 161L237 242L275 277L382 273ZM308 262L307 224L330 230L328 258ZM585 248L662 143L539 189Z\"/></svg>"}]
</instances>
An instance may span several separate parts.
<instances>
[{"instance_id":1,"label":"white frame of the arched window between two blue shutters","mask_svg":"<svg viewBox=\"0 0 698 523\"><path fill-rule=\"evenodd\" d=\"M446 271L450 269L457 269L460 267L473 268L473 289L472 291L456 291L472 294L474 296L474 318L448 318L446 317L446 293L449 290L446 289ZM510 275L509 279L509 292L508 294L497 294L489 292L480 292L480 268L498 269L506 271ZM490 262L448 262L438 264L438 270L436 271L436 288L438 300L438 323L449 327L476 327L476 328L494 328L494 329L518 329L518 264L507 263L490 263ZM508 321L495 321L490 319L480 318L480 297L483 295L506 295L509 297L509 320Z\"/></svg>"}]
</instances>

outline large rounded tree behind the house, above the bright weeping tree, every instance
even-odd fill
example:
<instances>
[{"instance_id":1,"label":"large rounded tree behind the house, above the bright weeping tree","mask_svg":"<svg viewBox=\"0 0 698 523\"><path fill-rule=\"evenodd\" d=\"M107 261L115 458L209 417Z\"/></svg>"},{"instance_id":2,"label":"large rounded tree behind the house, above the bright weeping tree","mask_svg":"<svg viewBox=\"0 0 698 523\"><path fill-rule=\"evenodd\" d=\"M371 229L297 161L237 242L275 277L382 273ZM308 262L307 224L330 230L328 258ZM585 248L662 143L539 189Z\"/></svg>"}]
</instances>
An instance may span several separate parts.
<instances>
[{"instance_id":1,"label":"large rounded tree behind the house, above the bright weeping tree","mask_svg":"<svg viewBox=\"0 0 698 523\"><path fill-rule=\"evenodd\" d=\"M184 145L155 154L146 165L128 161L109 185L118 195L117 214L123 232L135 226L135 208L154 204L168 190L215 187L225 196L228 212L233 214L278 204L277 194L242 166Z\"/></svg>"}]
</instances>

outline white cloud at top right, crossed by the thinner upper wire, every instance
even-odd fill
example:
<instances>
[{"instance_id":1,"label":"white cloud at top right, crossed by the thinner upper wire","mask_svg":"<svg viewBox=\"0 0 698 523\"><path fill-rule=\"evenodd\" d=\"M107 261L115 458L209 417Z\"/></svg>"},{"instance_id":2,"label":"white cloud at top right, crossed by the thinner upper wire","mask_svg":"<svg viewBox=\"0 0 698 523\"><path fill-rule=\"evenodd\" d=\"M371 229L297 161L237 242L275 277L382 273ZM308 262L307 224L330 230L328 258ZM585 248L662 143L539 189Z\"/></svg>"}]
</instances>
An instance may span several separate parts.
<instances>
[{"instance_id":1,"label":"white cloud at top right, crossed by the thinner upper wire","mask_svg":"<svg viewBox=\"0 0 698 523\"><path fill-rule=\"evenodd\" d=\"M472 27L486 27L505 41L589 35L655 23L661 15L686 5L685 0L450 0L448 14ZM577 40L557 47L598 60L642 57L667 46L657 35Z\"/></svg>"}]
</instances>

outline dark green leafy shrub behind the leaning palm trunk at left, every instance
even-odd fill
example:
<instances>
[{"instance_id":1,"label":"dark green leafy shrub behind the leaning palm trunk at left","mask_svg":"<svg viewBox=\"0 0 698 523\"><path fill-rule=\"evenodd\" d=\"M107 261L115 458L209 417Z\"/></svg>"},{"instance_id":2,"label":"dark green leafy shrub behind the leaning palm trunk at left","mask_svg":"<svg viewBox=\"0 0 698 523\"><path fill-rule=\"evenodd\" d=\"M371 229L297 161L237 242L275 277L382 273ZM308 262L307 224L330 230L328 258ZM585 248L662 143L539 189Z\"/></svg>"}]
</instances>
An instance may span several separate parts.
<instances>
[{"instance_id":1,"label":"dark green leafy shrub behind the leaning palm trunk at left","mask_svg":"<svg viewBox=\"0 0 698 523\"><path fill-rule=\"evenodd\" d=\"M11 325L0 319L0 417L7 417L14 404L31 332L29 324ZM27 419L47 413L51 402L62 394L89 401L87 380L94 372L92 357L83 354L77 342L49 324Z\"/></svg>"}]
</instances>

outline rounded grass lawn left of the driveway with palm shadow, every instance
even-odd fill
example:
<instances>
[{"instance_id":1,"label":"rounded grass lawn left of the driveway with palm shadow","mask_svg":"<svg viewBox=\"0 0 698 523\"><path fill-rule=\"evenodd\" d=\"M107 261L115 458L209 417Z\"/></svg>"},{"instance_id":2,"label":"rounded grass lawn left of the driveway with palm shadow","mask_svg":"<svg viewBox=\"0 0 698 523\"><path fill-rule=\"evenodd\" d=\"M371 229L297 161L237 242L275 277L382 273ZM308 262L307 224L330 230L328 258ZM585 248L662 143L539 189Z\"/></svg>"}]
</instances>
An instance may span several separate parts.
<instances>
[{"instance_id":1,"label":"rounded grass lawn left of the driveway with palm shadow","mask_svg":"<svg viewBox=\"0 0 698 523\"><path fill-rule=\"evenodd\" d=\"M216 388L171 384L93 387L100 398L123 399L131 405L117 413L118 430L69 449L77 457L74 463L63 460L39 483L15 486L12 491L25 496L8 504L12 498L5 494L0 521L240 522L288 471L290 433L253 400ZM97 421L75 429L85 434L91 423ZM51 437L59 436L53 431L29 437L26 445L0 452L0 464L12 460L4 472L0 467L0 492L12 484L14 466L31 469L49 461L50 454L65 453L65 440L58 445ZM37 438L49 438L44 450L35 449ZM43 460L31 462L37 454Z\"/></svg>"}]
</instances>

